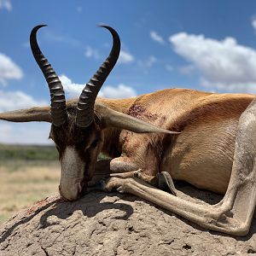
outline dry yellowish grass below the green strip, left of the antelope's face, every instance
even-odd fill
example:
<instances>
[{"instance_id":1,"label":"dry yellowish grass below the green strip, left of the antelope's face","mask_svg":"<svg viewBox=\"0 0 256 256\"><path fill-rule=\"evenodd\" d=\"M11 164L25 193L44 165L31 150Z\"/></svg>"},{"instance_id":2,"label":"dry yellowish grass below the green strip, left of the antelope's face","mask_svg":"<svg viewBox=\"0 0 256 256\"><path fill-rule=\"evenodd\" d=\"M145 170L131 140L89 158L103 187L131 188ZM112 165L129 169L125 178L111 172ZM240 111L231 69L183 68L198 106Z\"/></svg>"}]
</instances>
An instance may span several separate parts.
<instances>
[{"instance_id":1,"label":"dry yellowish grass below the green strip, left of the antelope's face","mask_svg":"<svg viewBox=\"0 0 256 256\"><path fill-rule=\"evenodd\" d=\"M58 191L57 161L5 161L0 165L0 224L20 208Z\"/></svg>"}]
</instances>

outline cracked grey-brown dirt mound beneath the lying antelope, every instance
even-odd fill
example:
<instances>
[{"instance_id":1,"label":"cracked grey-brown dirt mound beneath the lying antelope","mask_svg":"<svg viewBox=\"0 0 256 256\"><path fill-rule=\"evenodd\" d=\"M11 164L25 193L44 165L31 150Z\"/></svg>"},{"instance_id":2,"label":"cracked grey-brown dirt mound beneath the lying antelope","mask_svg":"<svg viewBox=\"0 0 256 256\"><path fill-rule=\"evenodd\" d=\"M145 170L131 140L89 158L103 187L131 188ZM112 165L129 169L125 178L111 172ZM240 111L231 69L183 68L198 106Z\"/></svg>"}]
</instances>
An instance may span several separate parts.
<instances>
[{"instance_id":1,"label":"cracked grey-brown dirt mound beneath the lying antelope","mask_svg":"<svg viewBox=\"0 0 256 256\"><path fill-rule=\"evenodd\" d=\"M242 238L203 230L131 195L55 195L3 224L0 255L253 255L255 231L255 220Z\"/></svg>"}]
</instances>

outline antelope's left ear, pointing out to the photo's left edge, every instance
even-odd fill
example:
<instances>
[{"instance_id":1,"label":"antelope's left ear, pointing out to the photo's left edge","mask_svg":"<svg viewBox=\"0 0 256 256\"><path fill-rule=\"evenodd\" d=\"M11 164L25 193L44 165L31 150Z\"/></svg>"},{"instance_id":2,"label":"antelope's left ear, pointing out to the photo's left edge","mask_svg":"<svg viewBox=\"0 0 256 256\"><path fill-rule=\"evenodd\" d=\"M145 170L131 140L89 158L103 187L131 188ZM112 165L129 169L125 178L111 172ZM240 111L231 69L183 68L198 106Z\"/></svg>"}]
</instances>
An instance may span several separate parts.
<instances>
[{"instance_id":1,"label":"antelope's left ear, pointing out to the photo's left edge","mask_svg":"<svg viewBox=\"0 0 256 256\"><path fill-rule=\"evenodd\" d=\"M51 116L49 107L34 107L15 111L8 111L0 113L0 119L10 122L49 122L51 123Z\"/></svg>"}]
</instances>

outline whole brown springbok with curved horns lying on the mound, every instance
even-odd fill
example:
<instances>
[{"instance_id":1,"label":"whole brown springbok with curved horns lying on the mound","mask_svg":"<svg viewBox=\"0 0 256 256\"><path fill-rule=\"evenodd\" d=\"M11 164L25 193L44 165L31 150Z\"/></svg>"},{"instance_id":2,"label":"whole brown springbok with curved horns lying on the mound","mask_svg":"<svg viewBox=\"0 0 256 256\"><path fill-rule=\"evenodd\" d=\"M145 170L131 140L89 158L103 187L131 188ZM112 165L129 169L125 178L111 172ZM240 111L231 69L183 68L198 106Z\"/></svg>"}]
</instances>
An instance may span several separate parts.
<instances>
[{"instance_id":1,"label":"whole brown springbok with curved horns lying on the mound","mask_svg":"<svg viewBox=\"0 0 256 256\"><path fill-rule=\"evenodd\" d=\"M96 173L110 172L100 183L105 191L140 196L209 230L247 235L256 202L255 97L169 89L124 100L96 98L120 50L118 33L103 26L113 36L110 55L79 100L66 102L60 79L38 47L42 26L32 29L30 44L51 105L1 113L0 119L52 124L61 196L77 200ZM97 161L100 152L111 160ZM213 206L186 201L172 178L224 198Z\"/></svg>"}]
</instances>

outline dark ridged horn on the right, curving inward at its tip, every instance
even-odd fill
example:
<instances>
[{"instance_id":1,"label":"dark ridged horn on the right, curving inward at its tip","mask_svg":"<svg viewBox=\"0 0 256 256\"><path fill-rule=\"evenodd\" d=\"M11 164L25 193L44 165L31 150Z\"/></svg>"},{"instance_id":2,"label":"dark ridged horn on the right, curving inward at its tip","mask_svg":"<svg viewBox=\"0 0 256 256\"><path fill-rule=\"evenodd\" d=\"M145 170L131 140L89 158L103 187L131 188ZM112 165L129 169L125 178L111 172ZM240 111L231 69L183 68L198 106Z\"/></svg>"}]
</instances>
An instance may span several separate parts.
<instances>
[{"instance_id":1,"label":"dark ridged horn on the right, curving inward at its tip","mask_svg":"<svg viewBox=\"0 0 256 256\"><path fill-rule=\"evenodd\" d=\"M102 66L99 67L90 81L85 84L84 90L79 97L76 125L84 128L88 127L92 123L96 96L119 58L120 38L118 33L110 26L101 26L107 28L108 31L111 32L113 37L113 46L108 58L102 63Z\"/></svg>"}]
</instances>

